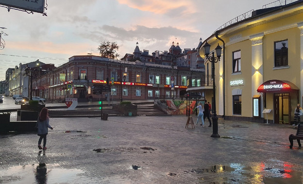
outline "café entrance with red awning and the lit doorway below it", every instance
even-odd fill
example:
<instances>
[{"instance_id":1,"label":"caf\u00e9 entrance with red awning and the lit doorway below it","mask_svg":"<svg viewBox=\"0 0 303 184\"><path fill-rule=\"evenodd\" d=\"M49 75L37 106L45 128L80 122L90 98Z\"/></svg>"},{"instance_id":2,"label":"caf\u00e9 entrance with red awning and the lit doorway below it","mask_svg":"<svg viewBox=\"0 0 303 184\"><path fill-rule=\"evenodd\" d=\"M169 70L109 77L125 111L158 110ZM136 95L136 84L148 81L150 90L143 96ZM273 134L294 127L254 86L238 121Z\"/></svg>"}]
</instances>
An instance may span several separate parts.
<instances>
[{"instance_id":1,"label":"caf\u00e9 entrance with red awning and the lit doorway below it","mask_svg":"<svg viewBox=\"0 0 303 184\"><path fill-rule=\"evenodd\" d=\"M286 80L269 80L259 86L263 94L264 111L269 111L269 121L276 124L290 124L294 110L299 103L299 88Z\"/></svg>"}]
</instances>

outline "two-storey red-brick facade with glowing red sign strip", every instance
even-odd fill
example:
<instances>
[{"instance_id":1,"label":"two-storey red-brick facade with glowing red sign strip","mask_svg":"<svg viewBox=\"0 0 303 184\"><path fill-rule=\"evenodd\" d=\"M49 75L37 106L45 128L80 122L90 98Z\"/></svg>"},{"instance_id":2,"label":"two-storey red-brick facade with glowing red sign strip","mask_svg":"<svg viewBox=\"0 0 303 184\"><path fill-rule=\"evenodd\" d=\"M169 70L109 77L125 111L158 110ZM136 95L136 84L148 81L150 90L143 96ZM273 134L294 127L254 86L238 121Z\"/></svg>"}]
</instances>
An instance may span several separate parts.
<instances>
[{"instance_id":1,"label":"two-storey red-brick facade with glowing red sign strip","mask_svg":"<svg viewBox=\"0 0 303 184\"><path fill-rule=\"evenodd\" d=\"M201 69L139 60L123 61L94 55L75 55L66 64L47 74L49 87L44 86L44 94L47 94L44 97L53 101L63 101L66 97L86 101L92 96L96 101L104 97L106 92L93 94L94 86L110 83L111 91L107 94L111 100L179 98L186 93L188 78L199 78L196 85L204 84L201 81L204 78L202 72Z\"/></svg>"}]
</instances>

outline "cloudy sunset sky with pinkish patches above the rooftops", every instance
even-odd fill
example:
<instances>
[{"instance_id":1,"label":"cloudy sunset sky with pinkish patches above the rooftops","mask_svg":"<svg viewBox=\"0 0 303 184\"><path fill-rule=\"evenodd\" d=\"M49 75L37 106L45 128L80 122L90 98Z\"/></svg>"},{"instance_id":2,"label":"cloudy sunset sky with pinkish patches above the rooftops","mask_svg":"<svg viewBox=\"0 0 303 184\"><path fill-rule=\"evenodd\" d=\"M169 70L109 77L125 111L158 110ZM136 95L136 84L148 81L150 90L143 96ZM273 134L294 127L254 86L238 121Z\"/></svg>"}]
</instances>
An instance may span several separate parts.
<instances>
[{"instance_id":1,"label":"cloudy sunset sky with pinkish patches above the rooftops","mask_svg":"<svg viewBox=\"0 0 303 184\"><path fill-rule=\"evenodd\" d=\"M102 41L120 46L119 58L141 51L168 51L171 43L195 48L225 22L275 0L47 0L46 16L0 7L0 81L8 68L39 59L59 66L92 53Z\"/></svg>"}]
</instances>

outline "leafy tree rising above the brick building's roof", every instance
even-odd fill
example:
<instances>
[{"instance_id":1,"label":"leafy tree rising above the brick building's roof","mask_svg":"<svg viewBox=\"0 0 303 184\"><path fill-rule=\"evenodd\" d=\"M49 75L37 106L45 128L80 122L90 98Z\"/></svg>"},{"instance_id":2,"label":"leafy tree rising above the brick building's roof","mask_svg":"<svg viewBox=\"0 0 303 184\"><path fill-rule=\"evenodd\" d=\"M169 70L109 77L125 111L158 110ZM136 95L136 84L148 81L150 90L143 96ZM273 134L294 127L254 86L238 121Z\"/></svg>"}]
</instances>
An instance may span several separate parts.
<instances>
[{"instance_id":1,"label":"leafy tree rising above the brick building's roof","mask_svg":"<svg viewBox=\"0 0 303 184\"><path fill-rule=\"evenodd\" d=\"M117 51L119 50L119 46L118 46L117 42L103 41L99 45L98 50L102 57L115 59L119 56L117 53Z\"/></svg>"}]
</instances>

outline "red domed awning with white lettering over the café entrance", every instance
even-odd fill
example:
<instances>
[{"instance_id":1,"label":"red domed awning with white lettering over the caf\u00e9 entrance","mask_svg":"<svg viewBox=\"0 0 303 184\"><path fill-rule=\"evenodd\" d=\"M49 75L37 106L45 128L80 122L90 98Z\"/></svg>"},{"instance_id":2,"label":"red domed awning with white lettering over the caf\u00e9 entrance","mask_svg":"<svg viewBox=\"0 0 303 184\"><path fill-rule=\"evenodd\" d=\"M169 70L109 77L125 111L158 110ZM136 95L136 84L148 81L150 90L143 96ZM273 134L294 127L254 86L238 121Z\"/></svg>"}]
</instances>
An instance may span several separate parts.
<instances>
[{"instance_id":1,"label":"red domed awning with white lettering over the caf\u00e9 entrance","mask_svg":"<svg viewBox=\"0 0 303 184\"><path fill-rule=\"evenodd\" d=\"M257 92L291 92L299 90L299 88L292 82L287 80L268 80L264 82Z\"/></svg>"}]
</instances>

